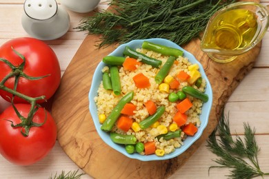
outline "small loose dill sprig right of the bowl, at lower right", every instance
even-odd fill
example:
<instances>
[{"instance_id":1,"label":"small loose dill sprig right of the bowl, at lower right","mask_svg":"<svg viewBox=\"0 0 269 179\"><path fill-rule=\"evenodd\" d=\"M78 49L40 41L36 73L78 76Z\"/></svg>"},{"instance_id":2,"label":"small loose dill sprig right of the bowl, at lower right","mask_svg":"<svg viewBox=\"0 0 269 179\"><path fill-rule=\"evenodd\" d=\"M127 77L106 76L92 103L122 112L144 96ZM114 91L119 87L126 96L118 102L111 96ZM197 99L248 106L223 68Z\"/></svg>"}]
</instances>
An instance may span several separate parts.
<instances>
[{"instance_id":1,"label":"small loose dill sprig right of the bowl, at lower right","mask_svg":"<svg viewBox=\"0 0 269 179\"><path fill-rule=\"evenodd\" d=\"M255 178L266 176L259 167L258 153L259 147L255 140L255 129L251 129L249 124L243 123L245 133L244 139L239 135L232 137L228 116L221 115L219 125L208 138L208 149L219 158L214 161L216 166L212 168L230 169L229 178ZM217 139L216 133L219 134Z\"/></svg>"}]
</instances>

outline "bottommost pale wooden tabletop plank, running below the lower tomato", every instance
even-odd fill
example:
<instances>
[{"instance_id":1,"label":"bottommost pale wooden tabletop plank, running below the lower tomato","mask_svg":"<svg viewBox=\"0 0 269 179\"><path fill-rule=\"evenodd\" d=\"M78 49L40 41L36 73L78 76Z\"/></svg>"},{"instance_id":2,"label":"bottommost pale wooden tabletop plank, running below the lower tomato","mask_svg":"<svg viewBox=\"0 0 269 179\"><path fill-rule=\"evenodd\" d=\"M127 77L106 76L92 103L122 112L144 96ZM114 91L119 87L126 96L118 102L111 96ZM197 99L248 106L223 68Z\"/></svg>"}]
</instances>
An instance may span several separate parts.
<instances>
[{"instance_id":1,"label":"bottommost pale wooden tabletop plank, running below the lower tomato","mask_svg":"<svg viewBox=\"0 0 269 179\"><path fill-rule=\"evenodd\" d=\"M259 164L262 171L268 171L269 169L269 143L264 143L268 140L268 136L256 135L257 143L261 148L259 152ZM206 142L199 147L199 150L195 151L195 154L183 165L170 179L194 179L194 178L208 178L208 179L226 179L228 175L228 169L211 169L208 176L208 168L212 165L216 165L212 159L216 156L212 154L206 148ZM56 143L50 154L40 162L28 167L19 167L7 162L2 156L0 156L0 174L1 178L21 178L21 179L48 179L52 173L61 173L61 171L74 171L77 170L77 165L66 156L59 143ZM83 173L79 170L79 173ZM88 175L84 175L81 179L92 178Z\"/></svg>"}]
</instances>

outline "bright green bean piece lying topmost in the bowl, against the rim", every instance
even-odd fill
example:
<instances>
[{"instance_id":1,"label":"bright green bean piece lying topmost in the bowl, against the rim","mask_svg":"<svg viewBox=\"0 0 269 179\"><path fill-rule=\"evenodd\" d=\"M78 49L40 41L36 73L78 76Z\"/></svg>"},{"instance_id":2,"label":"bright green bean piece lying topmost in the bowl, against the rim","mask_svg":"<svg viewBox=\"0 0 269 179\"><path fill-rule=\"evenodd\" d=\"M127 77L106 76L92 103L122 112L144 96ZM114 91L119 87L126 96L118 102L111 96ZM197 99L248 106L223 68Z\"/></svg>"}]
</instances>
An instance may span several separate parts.
<instances>
[{"instance_id":1,"label":"bright green bean piece lying topmost in the bowl, against the rim","mask_svg":"<svg viewBox=\"0 0 269 179\"><path fill-rule=\"evenodd\" d=\"M183 56L183 51L177 48L170 48L165 45L159 45L157 43L152 43L149 41L143 41L142 48L147 50L152 50L154 52L158 52L167 56L175 56L176 58L179 56Z\"/></svg>"}]
</instances>

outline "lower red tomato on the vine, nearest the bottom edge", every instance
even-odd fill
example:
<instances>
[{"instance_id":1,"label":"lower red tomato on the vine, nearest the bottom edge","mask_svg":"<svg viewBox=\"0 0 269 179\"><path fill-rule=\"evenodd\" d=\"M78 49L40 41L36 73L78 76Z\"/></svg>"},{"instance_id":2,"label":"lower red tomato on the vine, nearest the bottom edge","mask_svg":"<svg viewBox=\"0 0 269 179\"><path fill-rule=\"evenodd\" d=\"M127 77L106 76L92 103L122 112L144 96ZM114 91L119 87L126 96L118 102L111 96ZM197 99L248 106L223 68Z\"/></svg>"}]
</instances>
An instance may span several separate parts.
<instances>
[{"instance_id":1,"label":"lower red tomato on the vine, nearest the bottom edge","mask_svg":"<svg viewBox=\"0 0 269 179\"><path fill-rule=\"evenodd\" d=\"M29 104L16 104L19 113L26 117L30 111ZM39 108L34 114L34 123L46 123L41 127L31 127L28 136L21 134L21 127L12 127L21 123L12 106L0 115L0 154L16 165L32 165L41 160L52 149L57 138L57 126L46 109ZM8 121L10 120L10 121Z\"/></svg>"}]
</instances>

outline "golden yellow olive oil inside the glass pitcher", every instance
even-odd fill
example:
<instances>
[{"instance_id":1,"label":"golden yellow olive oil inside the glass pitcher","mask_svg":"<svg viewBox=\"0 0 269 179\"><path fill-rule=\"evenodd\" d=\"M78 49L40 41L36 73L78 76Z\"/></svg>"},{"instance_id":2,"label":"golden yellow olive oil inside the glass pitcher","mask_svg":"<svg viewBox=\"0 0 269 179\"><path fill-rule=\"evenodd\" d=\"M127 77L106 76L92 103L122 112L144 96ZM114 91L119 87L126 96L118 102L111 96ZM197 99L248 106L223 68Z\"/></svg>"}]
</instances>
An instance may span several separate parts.
<instances>
[{"instance_id":1,"label":"golden yellow olive oil inside the glass pitcher","mask_svg":"<svg viewBox=\"0 0 269 179\"><path fill-rule=\"evenodd\" d=\"M258 23L250 10L228 10L215 17L207 27L203 49L241 50L255 39Z\"/></svg>"}]
</instances>

